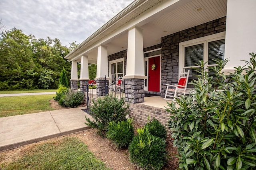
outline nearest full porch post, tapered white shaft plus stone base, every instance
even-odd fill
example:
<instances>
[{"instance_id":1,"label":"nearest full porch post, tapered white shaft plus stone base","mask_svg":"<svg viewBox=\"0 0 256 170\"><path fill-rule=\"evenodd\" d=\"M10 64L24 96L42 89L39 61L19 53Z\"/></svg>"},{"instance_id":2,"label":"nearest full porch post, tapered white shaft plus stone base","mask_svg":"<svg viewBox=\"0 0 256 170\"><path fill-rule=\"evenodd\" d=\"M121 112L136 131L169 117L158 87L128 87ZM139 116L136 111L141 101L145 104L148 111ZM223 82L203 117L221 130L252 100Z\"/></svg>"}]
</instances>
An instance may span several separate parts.
<instances>
[{"instance_id":1,"label":"nearest full porch post, tapered white shaft plus stone base","mask_svg":"<svg viewBox=\"0 0 256 170\"><path fill-rule=\"evenodd\" d=\"M144 102L144 54L142 29L133 27L128 32L125 100L131 103Z\"/></svg>"}]
</instances>

